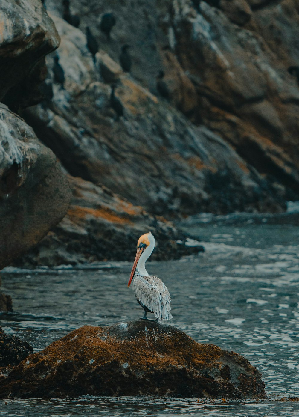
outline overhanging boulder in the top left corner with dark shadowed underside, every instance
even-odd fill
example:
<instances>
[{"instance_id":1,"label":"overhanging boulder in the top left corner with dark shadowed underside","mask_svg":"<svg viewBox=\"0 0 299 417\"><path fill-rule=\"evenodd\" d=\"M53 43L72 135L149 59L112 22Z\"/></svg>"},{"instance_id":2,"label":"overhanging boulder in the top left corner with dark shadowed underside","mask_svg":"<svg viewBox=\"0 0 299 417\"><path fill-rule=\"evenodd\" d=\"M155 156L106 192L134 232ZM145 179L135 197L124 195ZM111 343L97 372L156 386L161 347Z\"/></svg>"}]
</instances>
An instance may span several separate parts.
<instances>
[{"instance_id":1,"label":"overhanging boulder in the top left corner with dark shadowed underside","mask_svg":"<svg viewBox=\"0 0 299 417\"><path fill-rule=\"evenodd\" d=\"M59 36L40 0L1 0L0 28L0 101L19 111L40 102L43 57L58 47Z\"/></svg>"}]
</instances>

